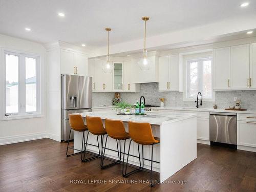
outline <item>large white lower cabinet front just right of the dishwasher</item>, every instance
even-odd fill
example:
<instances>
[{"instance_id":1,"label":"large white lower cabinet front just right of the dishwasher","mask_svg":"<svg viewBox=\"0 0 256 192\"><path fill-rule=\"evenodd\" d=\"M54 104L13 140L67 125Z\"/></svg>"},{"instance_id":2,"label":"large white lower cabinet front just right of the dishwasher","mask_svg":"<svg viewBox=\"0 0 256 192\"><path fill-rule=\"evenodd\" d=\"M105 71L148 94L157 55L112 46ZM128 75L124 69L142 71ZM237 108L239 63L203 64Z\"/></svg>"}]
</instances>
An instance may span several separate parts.
<instances>
[{"instance_id":1,"label":"large white lower cabinet front just right of the dishwasher","mask_svg":"<svg viewBox=\"0 0 256 192\"><path fill-rule=\"evenodd\" d=\"M238 121L238 145L256 147L256 122Z\"/></svg>"}]
</instances>

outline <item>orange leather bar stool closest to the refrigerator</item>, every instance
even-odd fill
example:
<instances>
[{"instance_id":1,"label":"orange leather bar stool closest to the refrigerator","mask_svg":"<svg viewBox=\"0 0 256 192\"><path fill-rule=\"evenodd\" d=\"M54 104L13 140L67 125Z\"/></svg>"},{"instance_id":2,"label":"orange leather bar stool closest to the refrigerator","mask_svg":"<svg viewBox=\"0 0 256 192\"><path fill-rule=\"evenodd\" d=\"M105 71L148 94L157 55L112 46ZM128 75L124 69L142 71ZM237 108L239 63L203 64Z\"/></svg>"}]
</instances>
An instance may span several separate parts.
<instances>
[{"instance_id":1,"label":"orange leather bar stool closest to the refrigerator","mask_svg":"<svg viewBox=\"0 0 256 192\"><path fill-rule=\"evenodd\" d=\"M69 140L70 140L70 135L71 135L72 130L78 131L78 132L83 132L83 137L82 137L83 138L82 139L82 149L83 149L84 132L88 131L88 129L87 129L87 126L83 123L82 116L81 115L76 115L76 114L69 114L69 123L70 123L70 126L71 126L71 129L70 129L70 132L69 132ZM76 153L73 153L73 154L68 155L68 149L69 148L71 148L72 150L76 150L74 147L69 147L69 140L68 140L68 146L67 146L67 152L66 152L67 157L76 154ZM76 150L76 151L82 152L82 149L81 150ZM82 158L82 156L81 156L81 158Z\"/></svg>"}]
</instances>

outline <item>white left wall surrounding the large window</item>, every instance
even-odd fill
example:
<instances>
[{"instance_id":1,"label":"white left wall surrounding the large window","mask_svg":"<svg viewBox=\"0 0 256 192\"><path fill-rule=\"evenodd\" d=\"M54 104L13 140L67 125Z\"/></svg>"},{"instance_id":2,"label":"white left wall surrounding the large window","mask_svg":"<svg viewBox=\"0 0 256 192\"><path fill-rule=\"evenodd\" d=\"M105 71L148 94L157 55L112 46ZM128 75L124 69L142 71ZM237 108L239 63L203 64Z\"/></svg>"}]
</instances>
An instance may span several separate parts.
<instances>
[{"instance_id":1,"label":"white left wall surrounding the large window","mask_svg":"<svg viewBox=\"0 0 256 192\"><path fill-rule=\"evenodd\" d=\"M16 119L16 120L0 120L0 145L8 143L16 143L27 140L45 138L46 134L46 50L45 48L36 42L14 38L0 34L0 48L24 51L27 53L34 53L40 55L41 65L41 99L42 99L42 117L28 118L28 119ZM3 51L0 55L0 66L3 65ZM2 79L1 79L2 80ZM1 83L3 84L3 83ZM0 101L2 102L2 95L0 94Z\"/></svg>"}]
</instances>

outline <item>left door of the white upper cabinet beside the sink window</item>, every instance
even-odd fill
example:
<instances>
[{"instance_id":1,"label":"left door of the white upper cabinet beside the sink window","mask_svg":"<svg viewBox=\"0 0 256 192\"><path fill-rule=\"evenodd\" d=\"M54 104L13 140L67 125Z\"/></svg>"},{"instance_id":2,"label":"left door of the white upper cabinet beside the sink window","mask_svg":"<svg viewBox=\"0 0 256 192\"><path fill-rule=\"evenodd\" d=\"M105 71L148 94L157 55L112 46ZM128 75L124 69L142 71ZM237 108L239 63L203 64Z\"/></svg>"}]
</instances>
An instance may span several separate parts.
<instances>
[{"instance_id":1,"label":"left door of the white upper cabinet beside the sink window","mask_svg":"<svg viewBox=\"0 0 256 192\"><path fill-rule=\"evenodd\" d=\"M159 91L169 91L169 56L159 57Z\"/></svg>"}]
</instances>

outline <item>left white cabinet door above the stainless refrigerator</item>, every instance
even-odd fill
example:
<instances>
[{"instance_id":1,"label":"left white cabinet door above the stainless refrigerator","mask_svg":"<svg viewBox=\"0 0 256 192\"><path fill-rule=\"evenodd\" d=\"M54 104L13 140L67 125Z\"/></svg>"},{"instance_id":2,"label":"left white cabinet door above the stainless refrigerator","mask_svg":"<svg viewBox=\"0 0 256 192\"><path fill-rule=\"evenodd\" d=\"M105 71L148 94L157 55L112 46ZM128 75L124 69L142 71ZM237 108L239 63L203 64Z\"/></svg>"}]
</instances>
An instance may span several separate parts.
<instances>
[{"instance_id":1,"label":"left white cabinet door above the stainless refrigerator","mask_svg":"<svg viewBox=\"0 0 256 192\"><path fill-rule=\"evenodd\" d=\"M64 49L60 50L60 73L75 74L74 52Z\"/></svg>"}]
</instances>

